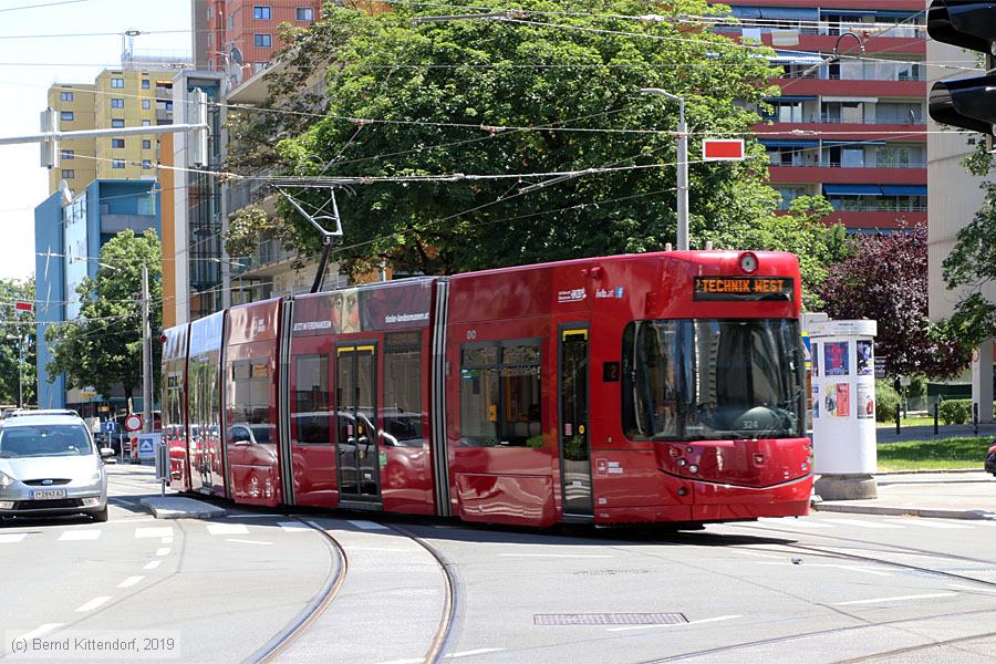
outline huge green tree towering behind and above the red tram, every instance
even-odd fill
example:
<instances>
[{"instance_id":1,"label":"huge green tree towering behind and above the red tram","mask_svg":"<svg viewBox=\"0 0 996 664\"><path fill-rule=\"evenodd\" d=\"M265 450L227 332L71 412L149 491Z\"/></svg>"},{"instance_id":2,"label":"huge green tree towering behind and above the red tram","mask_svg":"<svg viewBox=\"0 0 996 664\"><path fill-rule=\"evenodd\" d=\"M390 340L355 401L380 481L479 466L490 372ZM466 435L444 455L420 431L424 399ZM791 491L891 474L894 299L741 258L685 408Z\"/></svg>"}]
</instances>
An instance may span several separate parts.
<instances>
[{"instance_id":1,"label":"huge green tree towering behind and above the red tram","mask_svg":"<svg viewBox=\"0 0 996 664\"><path fill-rule=\"evenodd\" d=\"M464 6L479 13L459 1L445 13L459 14ZM311 29L284 34L292 46L270 79L266 108L232 126L242 149L231 166L251 173L276 160L302 178L619 168L563 178L362 181L339 200L345 238L336 258L353 272L382 262L455 272L674 241L670 132L677 107L640 89L686 98L697 160L705 133L740 135L759 122L750 108L776 94L768 84L777 73L766 58L771 51L684 22L682 15L726 13L702 0L655 8L665 14L656 21L633 20L647 13L637 0L600 3L596 15L579 0L517 6L512 20L418 24L414 18L438 9L397 3L371 14L328 6ZM748 142L748 153L741 163L692 165L694 247L707 231L735 238L735 229L760 221L769 231L756 238L757 248L798 245L798 216L772 219L777 193L765 184L762 147ZM294 195L313 209L328 200L314 188ZM289 220L279 229L260 222L257 210L240 217L230 249L241 251L232 253L245 252L253 228L317 250L304 220L286 204L279 209ZM787 246L764 246L769 241Z\"/></svg>"}]
</instances>

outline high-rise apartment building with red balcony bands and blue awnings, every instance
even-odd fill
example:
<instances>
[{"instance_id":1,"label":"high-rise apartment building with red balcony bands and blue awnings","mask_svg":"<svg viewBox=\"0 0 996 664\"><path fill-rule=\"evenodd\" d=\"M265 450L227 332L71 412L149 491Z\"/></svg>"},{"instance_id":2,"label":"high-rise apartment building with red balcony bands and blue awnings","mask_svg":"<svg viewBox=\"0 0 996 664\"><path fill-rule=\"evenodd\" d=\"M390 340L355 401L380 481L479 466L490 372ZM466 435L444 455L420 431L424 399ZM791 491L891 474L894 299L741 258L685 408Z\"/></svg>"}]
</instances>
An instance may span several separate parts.
<instances>
[{"instance_id":1,"label":"high-rise apartment building with red balcony bands and blue awnings","mask_svg":"<svg viewBox=\"0 0 996 664\"><path fill-rule=\"evenodd\" d=\"M787 208L822 194L850 232L926 220L923 2L730 0L716 28L772 46L784 74L771 124L754 127ZM830 61L834 52L838 61Z\"/></svg>"}]
</instances>

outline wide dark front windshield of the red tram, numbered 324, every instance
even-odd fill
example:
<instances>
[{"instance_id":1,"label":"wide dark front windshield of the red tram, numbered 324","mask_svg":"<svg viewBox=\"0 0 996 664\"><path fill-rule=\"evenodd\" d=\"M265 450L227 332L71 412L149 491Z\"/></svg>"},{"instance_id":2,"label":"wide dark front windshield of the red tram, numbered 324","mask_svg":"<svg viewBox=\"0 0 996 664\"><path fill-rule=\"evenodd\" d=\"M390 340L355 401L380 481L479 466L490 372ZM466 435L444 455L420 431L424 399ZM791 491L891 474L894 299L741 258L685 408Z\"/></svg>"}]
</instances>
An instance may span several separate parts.
<instances>
[{"instance_id":1,"label":"wide dark front windshield of the red tram, numbered 324","mask_svg":"<svg viewBox=\"0 0 996 664\"><path fill-rule=\"evenodd\" d=\"M802 385L796 320L650 320L623 332L631 440L801 437Z\"/></svg>"}]
</instances>

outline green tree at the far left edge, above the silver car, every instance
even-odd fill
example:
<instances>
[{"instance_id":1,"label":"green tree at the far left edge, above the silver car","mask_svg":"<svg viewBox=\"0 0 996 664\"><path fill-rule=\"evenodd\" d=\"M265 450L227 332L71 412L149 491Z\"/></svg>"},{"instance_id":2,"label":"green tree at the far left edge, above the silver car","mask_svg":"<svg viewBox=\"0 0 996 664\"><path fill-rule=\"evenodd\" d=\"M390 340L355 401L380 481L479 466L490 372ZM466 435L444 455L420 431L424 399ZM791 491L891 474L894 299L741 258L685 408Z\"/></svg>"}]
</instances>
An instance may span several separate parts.
<instances>
[{"instance_id":1,"label":"green tree at the far left edge, above the silver car","mask_svg":"<svg viewBox=\"0 0 996 664\"><path fill-rule=\"evenodd\" d=\"M0 402L37 403L38 352L34 311L18 311L17 302L34 302L34 278L0 280Z\"/></svg>"}]
</instances>

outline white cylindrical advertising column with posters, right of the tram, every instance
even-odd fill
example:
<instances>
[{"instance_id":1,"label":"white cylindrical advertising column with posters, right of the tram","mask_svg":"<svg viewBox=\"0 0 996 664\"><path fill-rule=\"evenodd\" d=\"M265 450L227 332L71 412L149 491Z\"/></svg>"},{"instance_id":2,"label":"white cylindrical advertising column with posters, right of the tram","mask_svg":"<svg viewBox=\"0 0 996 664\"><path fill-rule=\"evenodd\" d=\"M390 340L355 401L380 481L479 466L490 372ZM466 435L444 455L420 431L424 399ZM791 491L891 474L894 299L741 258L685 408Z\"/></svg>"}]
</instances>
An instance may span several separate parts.
<instances>
[{"instance_id":1,"label":"white cylindrical advertising column with posters, right of the tram","mask_svg":"<svg viewBox=\"0 0 996 664\"><path fill-rule=\"evenodd\" d=\"M823 500L874 498L875 321L820 321L809 330L815 487Z\"/></svg>"}]
</instances>

